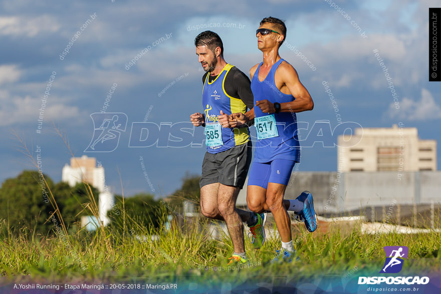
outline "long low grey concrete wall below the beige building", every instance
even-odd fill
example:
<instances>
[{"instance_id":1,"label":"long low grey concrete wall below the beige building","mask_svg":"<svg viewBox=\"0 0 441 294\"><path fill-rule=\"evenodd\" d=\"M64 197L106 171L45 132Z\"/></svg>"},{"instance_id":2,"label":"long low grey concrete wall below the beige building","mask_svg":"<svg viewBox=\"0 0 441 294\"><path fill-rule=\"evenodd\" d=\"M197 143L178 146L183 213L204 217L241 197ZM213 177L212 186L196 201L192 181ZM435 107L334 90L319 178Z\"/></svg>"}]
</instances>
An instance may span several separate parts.
<instances>
[{"instance_id":1,"label":"long low grey concrete wall below the beige building","mask_svg":"<svg viewBox=\"0 0 441 294\"><path fill-rule=\"evenodd\" d=\"M247 184L245 184L246 187ZM298 172L291 175L285 199L304 190L314 195L319 214L344 213L363 207L441 204L441 171L402 172ZM247 205L247 189L240 191L237 205Z\"/></svg>"}]
</instances>

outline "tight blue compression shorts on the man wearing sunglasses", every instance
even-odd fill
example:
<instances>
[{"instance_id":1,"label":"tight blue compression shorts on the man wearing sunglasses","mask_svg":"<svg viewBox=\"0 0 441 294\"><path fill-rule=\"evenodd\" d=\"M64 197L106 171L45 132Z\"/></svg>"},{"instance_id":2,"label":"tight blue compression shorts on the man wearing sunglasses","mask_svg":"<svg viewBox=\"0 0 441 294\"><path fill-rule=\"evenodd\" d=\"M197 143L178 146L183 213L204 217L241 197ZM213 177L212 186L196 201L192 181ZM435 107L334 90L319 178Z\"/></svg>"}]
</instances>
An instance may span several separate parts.
<instances>
[{"instance_id":1,"label":"tight blue compression shorts on the man wearing sunglasses","mask_svg":"<svg viewBox=\"0 0 441 294\"><path fill-rule=\"evenodd\" d=\"M269 182L288 185L295 164L294 160L287 159L274 159L266 163L253 162L248 186L255 185L266 189Z\"/></svg>"}]
</instances>

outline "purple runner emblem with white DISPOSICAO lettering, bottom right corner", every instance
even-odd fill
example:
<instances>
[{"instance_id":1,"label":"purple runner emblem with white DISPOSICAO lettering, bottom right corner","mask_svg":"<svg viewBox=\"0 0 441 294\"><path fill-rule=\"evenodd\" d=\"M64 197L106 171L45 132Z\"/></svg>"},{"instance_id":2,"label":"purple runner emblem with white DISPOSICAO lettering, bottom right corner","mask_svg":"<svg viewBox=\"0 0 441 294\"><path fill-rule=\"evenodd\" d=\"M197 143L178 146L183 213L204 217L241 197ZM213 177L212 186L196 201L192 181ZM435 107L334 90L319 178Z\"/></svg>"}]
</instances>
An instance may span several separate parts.
<instances>
[{"instance_id":1,"label":"purple runner emblem with white DISPOSICAO lettering, bottom right corner","mask_svg":"<svg viewBox=\"0 0 441 294\"><path fill-rule=\"evenodd\" d=\"M384 253L386 259L379 273L397 273L403 268L404 259L409 254L409 248L406 246L384 246ZM427 276L360 276L358 277L358 284L422 284L429 282Z\"/></svg>"}]
</instances>

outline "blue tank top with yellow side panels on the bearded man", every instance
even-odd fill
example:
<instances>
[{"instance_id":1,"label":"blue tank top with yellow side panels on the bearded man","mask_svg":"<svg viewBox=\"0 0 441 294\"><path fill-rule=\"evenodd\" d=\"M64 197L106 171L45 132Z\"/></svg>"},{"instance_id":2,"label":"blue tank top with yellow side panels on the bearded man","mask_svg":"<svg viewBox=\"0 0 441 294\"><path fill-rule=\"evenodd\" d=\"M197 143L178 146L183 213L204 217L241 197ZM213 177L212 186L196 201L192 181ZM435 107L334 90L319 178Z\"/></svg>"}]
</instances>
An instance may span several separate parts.
<instances>
[{"instance_id":1,"label":"blue tank top with yellow side panels on the bearded man","mask_svg":"<svg viewBox=\"0 0 441 294\"><path fill-rule=\"evenodd\" d=\"M234 146L242 145L247 143L250 138L248 127L240 129L223 128L217 120L217 116L220 115L220 110L227 115L237 112L245 113L247 111L247 106L241 99L231 97L225 92L225 77L231 68L233 68L233 65L227 64L211 83L208 82L209 74L206 75L203 83L202 105L205 114L205 133L208 132L206 139L211 139L214 143L214 145L211 144L212 146L208 146L207 144L207 152L209 153L218 153ZM222 138L219 136L219 126ZM222 139L222 141L220 139Z\"/></svg>"}]
</instances>

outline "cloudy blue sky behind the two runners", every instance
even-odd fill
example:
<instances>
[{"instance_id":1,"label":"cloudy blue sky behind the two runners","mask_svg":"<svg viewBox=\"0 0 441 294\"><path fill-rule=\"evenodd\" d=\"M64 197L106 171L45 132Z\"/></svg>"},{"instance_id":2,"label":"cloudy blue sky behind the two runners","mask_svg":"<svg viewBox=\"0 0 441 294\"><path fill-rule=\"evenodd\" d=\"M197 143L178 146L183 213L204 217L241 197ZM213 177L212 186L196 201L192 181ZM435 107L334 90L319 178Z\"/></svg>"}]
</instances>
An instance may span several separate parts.
<instances>
[{"instance_id":1,"label":"cloudy blue sky behind the two runners","mask_svg":"<svg viewBox=\"0 0 441 294\"><path fill-rule=\"evenodd\" d=\"M204 148L129 147L132 123L143 122L147 113L147 122L158 125L188 122L191 113L201 112L203 72L193 46L195 36L205 30L199 27L218 33L227 62L248 73L262 59L255 30L267 16L286 21L286 45L280 54L297 69L315 102L312 112L298 114L299 121L312 126L328 120L331 129L336 127L334 108L322 85L327 81L342 121L363 127L403 122L405 127L417 127L421 139L440 141L441 132L434 126L441 119L441 83L428 82L427 50L428 8L436 4L392 0L2 1L0 181L32 167L19 151L13 131L29 147L41 147L43 171L55 181L61 180L61 169L70 154L54 133L55 125L68 137L76 156L86 154L102 162L107 184L114 192L121 193L118 170L125 195L152 192L151 185L158 196L173 192L185 172L200 174ZM94 14L96 18L75 37ZM170 38L126 70L130 60L166 35ZM75 42L61 60L60 54L72 38ZM393 105L375 49L393 78L399 109ZM53 72L56 75L38 134L41 98ZM84 153L94 131L90 114L100 112L113 84L117 87L106 112L125 113L127 129L121 132L113 152ZM336 142L340 134L328 139ZM301 132L302 137L307 135L308 130ZM202 142L202 138L202 128L196 128L193 143ZM336 148L315 144L302 149L301 171L332 171L336 167Z\"/></svg>"}]
</instances>

